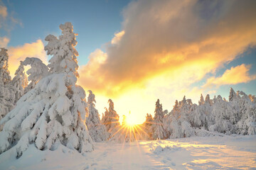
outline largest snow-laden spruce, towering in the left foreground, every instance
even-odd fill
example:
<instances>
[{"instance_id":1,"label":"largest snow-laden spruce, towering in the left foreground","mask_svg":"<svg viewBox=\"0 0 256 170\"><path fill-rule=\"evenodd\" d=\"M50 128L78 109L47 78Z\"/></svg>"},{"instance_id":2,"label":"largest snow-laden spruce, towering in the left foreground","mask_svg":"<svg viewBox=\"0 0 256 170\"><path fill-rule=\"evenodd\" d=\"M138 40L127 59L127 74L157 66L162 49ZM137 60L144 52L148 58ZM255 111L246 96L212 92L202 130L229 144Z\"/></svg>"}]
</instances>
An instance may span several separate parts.
<instances>
[{"instance_id":1,"label":"largest snow-laden spruce, towering in the left foreground","mask_svg":"<svg viewBox=\"0 0 256 170\"><path fill-rule=\"evenodd\" d=\"M75 84L78 52L73 25L61 24L60 30L63 35L59 38L46 37L45 50L53 55L49 64L51 74L23 95L16 108L1 120L5 125L0 132L0 152L15 147L20 156L30 144L38 149L55 149L61 144L81 153L93 150L85 125L85 91Z\"/></svg>"}]
</instances>

